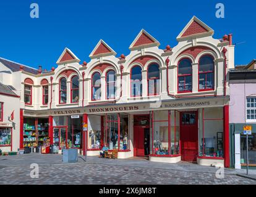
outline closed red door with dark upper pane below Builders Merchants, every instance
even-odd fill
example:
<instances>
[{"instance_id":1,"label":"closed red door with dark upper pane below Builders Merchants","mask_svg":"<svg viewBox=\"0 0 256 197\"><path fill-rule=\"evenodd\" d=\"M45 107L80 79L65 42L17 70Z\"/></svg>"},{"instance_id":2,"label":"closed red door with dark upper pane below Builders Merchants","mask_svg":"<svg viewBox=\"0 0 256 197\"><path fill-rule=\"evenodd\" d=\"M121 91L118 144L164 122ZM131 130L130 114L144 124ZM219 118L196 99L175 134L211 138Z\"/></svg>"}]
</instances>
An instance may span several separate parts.
<instances>
[{"instance_id":1,"label":"closed red door with dark upper pane below Builders Merchants","mask_svg":"<svg viewBox=\"0 0 256 197\"><path fill-rule=\"evenodd\" d=\"M198 126L197 111L181 113L181 159L197 161Z\"/></svg>"}]
</instances>

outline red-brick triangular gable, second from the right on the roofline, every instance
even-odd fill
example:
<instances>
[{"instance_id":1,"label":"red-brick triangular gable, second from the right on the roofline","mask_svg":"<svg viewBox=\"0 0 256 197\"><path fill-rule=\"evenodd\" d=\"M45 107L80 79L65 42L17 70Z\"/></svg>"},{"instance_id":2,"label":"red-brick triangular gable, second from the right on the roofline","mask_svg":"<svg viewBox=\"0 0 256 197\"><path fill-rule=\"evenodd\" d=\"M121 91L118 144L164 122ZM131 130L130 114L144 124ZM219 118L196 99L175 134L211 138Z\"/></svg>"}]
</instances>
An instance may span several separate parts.
<instances>
[{"instance_id":1,"label":"red-brick triangular gable, second from the right on the roofline","mask_svg":"<svg viewBox=\"0 0 256 197\"><path fill-rule=\"evenodd\" d=\"M160 43L153 36L147 33L147 31L142 29L132 44L130 44L129 49L145 46L160 46Z\"/></svg>"}]
</instances>

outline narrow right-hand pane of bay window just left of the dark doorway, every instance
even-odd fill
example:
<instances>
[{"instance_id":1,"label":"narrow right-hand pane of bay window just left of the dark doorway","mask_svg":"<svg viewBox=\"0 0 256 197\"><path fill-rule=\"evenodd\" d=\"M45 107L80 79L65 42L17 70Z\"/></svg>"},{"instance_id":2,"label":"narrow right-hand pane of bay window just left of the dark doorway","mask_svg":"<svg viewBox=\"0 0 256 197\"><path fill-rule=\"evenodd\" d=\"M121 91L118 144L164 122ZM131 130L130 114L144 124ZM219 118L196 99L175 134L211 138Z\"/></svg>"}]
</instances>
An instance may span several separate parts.
<instances>
[{"instance_id":1,"label":"narrow right-hand pane of bay window just left of the dark doorway","mask_svg":"<svg viewBox=\"0 0 256 197\"><path fill-rule=\"evenodd\" d=\"M129 150L129 115L120 114L120 150Z\"/></svg>"}]
</instances>

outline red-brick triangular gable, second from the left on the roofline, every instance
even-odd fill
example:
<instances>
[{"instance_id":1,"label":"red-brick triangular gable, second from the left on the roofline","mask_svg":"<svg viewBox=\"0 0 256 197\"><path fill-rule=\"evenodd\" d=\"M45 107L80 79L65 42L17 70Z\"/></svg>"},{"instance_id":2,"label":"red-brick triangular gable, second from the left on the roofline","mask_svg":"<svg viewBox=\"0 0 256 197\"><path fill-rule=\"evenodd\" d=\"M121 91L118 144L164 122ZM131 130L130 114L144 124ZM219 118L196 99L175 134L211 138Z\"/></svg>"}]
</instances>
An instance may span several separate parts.
<instances>
[{"instance_id":1,"label":"red-brick triangular gable, second from the left on the roofline","mask_svg":"<svg viewBox=\"0 0 256 197\"><path fill-rule=\"evenodd\" d=\"M99 56L116 55L116 52L106 44L102 39L98 42L92 53L89 55L90 58Z\"/></svg>"}]
</instances>

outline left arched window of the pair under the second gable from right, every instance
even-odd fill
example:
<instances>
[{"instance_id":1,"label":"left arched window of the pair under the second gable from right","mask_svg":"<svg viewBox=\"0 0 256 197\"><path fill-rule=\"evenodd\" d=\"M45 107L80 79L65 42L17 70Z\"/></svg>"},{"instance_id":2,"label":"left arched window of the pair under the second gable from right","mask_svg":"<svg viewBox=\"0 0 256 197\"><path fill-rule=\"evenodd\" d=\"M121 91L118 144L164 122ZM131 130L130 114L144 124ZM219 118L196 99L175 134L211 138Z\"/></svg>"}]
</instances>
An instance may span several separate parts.
<instances>
[{"instance_id":1,"label":"left arched window of the pair under the second gable from right","mask_svg":"<svg viewBox=\"0 0 256 197\"><path fill-rule=\"evenodd\" d=\"M142 68L134 66L130 71L130 97L142 96Z\"/></svg>"}]
</instances>

